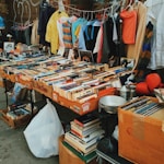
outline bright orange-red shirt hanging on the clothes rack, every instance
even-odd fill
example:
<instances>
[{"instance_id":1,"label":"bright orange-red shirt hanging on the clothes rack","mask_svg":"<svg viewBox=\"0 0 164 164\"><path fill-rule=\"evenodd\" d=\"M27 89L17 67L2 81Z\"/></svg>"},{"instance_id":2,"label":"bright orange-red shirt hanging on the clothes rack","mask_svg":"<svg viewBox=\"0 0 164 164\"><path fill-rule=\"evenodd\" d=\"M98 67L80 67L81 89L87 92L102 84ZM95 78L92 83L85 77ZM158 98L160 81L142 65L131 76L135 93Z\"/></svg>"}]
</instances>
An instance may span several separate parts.
<instances>
[{"instance_id":1,"label":"bright orange-red shirt hanging on the clothes rack","mask_svg":"<svg viewBox=\"0 0 164 164\"><path fill-rule=\"evenodd\" d=\"M125 44L136 43L137 32L137 11L122 10L120 12L122 19L122 40Z\"/></svg>"}]
</instances>

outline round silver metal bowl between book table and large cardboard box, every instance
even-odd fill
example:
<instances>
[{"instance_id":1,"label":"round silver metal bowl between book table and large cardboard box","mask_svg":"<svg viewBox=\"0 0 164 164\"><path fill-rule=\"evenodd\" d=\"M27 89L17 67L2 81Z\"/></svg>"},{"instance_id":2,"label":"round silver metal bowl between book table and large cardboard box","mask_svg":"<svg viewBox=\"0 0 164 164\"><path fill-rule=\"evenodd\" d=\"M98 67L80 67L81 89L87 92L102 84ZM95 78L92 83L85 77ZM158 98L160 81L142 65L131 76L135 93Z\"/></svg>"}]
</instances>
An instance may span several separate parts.
<instances>
[{"instance_id":1,"label":"round silver metal bowl between book table and large cardboard box","mask_svg":"<svg viewBox=\"0 0 164 164\"><path fill-rule=\"evenodd\" d=\"M109 114L116 114L118 106L124 105L126 102L127 101L121 96L107 95L99 98L98 108L103 108L106 113Z\"/></svg>"}]
</instances>

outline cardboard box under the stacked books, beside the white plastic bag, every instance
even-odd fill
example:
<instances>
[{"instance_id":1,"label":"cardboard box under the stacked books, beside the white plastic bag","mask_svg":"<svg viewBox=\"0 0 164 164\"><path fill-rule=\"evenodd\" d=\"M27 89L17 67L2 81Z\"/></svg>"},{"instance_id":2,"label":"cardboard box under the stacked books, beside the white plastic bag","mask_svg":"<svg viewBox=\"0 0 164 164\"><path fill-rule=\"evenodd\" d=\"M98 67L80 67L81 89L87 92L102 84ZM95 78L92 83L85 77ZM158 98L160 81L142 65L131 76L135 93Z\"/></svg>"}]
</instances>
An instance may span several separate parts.
<instances>
[{"instance_id":1,"label":"cardboard box under the stacked books, beside the white plastic bag","mask_svg":"<svg viewBox=\"0 0 164 164\"><path fill-rule=\"evenodd\" d=\"M59 138L59 163L60 164L85 164L79 156L71 152L67 147L62 144L63 137ZM96 157L92 160L89 164L97 164Z\"/></svg>"}]
</instances>

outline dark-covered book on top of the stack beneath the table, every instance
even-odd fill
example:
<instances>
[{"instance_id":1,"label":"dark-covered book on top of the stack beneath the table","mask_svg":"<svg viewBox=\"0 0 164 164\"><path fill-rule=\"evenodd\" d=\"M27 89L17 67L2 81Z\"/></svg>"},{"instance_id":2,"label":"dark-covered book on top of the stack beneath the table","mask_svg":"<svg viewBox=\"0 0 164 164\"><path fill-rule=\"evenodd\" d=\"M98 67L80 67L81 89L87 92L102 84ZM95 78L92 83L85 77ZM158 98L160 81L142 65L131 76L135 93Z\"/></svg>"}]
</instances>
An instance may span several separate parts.
<instances>
[{"instance_id":1,"label":"dark-covered book on top of the stack beneath the table","mask_svg":"<svg viewBox=\"0 0 164 164\"><path fill-rule=\"evenodd\" d=\"M98 120L99 120L99 118L96 117L95 115L86 114L86 115L83 115L83 116L74 118L73 121L75 124L78 124L79 126L81 126L81 127L87 127L87 126L90 126L92 124L95 124Z\"/></svg>"}]
</instances>

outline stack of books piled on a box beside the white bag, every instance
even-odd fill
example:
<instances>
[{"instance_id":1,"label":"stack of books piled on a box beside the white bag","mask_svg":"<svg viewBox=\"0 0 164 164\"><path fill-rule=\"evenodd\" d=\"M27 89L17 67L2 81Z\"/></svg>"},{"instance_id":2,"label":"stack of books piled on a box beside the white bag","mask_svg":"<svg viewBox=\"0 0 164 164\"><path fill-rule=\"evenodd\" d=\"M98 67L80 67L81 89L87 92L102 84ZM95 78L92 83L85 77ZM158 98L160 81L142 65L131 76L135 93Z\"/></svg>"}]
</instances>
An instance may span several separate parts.
<instances>
[{"instance_id":1,"label":"stack of books piled on a box beside the white bag","mask_svg":"<svg viewBox=\"0 0 164 164\"><path fill-rule=\"evenodd\" d=\"M89 155L96 150L98 140L105 131L101 127L101 120L93 114L75 118L71 122L70 131L65 134L65 142L83 155Z\"/></svg>"}]
</instances>

